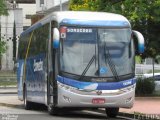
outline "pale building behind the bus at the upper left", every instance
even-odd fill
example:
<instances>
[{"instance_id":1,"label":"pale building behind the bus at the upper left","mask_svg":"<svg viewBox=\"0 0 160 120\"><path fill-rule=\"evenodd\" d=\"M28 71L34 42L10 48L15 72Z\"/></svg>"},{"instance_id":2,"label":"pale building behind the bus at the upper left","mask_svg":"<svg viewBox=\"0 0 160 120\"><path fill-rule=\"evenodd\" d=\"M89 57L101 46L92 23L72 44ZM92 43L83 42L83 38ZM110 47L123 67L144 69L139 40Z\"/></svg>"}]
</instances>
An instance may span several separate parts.
<instances>
[{"instance_id":1,"label":"pale building behind the bus at the upper left","mask_svg":"<svg viewBox=\"0 0 160 120\"><path fill-rule=\"evenodd\" d=\"M7 51L0 58L0 70L13 70L13 28L16 26L17 45L20 34L31 26L31 16L36 13L35 0L7 0L8 16L0 16L0 36L7 44ZM17 48L18 49L18 48Z\"/></svg>"}]
</instances>

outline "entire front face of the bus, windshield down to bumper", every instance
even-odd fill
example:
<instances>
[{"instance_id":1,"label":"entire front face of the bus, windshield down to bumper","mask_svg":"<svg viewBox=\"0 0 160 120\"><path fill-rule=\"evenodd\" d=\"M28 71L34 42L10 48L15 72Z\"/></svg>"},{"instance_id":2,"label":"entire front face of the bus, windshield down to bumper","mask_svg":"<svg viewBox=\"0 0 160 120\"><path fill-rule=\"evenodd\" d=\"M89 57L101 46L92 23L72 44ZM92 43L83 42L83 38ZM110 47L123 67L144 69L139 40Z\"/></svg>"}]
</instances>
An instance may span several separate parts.
<instances>
[{"instance_id":1,"label":"entire front face of the bus, windshield down to bumper","mask_svg":"<svg viewBox=\"0 0 160 120\"><path fill-rule=\"evenodd\" d=\"M129 26L60 26L59 106L131 107L135 50Z\"/></svg>"}]
</instances>

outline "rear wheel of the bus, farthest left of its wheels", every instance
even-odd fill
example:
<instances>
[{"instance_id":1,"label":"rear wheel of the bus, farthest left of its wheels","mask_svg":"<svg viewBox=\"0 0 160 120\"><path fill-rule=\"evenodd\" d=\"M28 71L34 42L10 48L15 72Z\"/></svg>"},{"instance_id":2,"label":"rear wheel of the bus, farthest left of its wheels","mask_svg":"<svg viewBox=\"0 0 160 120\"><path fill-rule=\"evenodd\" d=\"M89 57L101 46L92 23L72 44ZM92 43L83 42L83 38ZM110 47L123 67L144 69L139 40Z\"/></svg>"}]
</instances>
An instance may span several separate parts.
<instances>
[{"instance_id":1,"label":"rear wheel of the bus, farthest left of its wheels","mask_svg":"<svg viewBox=\"0 0 160 120\"><path fill-rule=\"evenodd\" d=\"M24 87L24 91L23 91L24 93L23 93L23 100L24 100L24 108L26 109L26 110L30 110L31 108L32 108L32 102L29 102L28 100L27 100L27 89L26 89L26 87Z\"/></svg>"}]
</instances>

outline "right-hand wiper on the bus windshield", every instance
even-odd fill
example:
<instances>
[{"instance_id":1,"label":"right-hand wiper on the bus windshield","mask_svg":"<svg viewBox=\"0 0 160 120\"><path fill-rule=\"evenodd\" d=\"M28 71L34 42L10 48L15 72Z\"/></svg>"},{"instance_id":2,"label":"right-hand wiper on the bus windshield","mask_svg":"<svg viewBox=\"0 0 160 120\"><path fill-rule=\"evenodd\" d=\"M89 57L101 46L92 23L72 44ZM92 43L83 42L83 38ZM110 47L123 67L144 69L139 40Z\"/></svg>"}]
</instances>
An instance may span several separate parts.
<instances>
[{"instance_id":1,"label":"right-hand wiper on the bus windshield","mask_svg":"<svg viewBox=\"0 0 160 120\"><path fill-rule=\"evenodd\" d=\"M106 53L106 51L107 51L107 53ZM104 44L104 56L105 56L105 63L106 63L106 65L107 65L107 61L106 60L108 60L108 65L109 65L109 67L111 69L111 72L112 72L115 80L119 81L119 77L118 77L118 74L117 74L117 71L116 71L115 64L114 64L114 62L111 59L111 54L109 53L109 49L108 49L106 43Z\"/></svg>"}]
</instances>

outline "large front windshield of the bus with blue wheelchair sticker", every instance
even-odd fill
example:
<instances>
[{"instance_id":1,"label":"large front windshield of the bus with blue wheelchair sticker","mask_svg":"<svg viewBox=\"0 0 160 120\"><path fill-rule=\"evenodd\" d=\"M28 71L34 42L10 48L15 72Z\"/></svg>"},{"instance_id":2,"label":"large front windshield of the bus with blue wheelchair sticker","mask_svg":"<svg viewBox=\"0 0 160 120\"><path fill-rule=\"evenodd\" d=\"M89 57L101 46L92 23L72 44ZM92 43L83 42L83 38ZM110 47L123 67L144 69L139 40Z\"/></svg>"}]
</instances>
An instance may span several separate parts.
<instances>
[{"instance_id":1,"label":"large front windshield of the bus with blue wheelchair sticker","mask_svg":"<svg viewBox=\"0 0 160 120\"><path fill-rule=\"evenodd\" d=\"M133 75L131 29L67 27L60 46L60 71L112 80L115 73L119 77Z\"/></svg>"}]
</instances>

